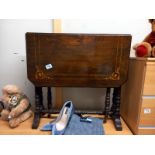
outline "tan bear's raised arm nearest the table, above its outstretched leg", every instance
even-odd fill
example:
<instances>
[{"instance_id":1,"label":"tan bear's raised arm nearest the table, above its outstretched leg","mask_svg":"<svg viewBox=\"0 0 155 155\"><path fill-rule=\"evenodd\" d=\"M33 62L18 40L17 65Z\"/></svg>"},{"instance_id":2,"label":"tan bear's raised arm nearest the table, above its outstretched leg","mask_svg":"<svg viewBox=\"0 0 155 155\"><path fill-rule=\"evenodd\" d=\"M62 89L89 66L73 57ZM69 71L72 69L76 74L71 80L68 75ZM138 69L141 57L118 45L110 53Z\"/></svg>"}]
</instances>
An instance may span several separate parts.
<instances>
[{"instance_id":1,"label":"tan bear's raised arm nearest the table, above its outstretched leg","mask_svg":"<svg viewBox=\"0 0 155 155\"><path fill-rule=\"evenodd\" d=\"M17 107L15 107L14 109L11 110L11 112L9 114L9 118L18 117L21 113L23 113L25 111L25 109L27 109L28 106L29 106L28 100L23 99Z\"/></svg>"}]
</instances>

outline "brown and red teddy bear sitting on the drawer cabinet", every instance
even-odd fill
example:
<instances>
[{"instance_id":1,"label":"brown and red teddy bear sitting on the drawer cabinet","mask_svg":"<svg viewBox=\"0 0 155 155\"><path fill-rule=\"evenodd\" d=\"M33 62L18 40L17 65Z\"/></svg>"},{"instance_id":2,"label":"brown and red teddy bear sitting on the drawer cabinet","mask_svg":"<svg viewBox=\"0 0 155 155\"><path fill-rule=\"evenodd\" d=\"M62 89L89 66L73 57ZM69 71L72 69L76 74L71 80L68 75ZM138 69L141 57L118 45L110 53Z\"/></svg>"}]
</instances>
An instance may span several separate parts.
<instances>
[{"instance_id":1,"label":"brown and red teddy bear sitting on the drawer cabinet","mask_svg":"<svg viewBox=\"0 0 155 155\"><path fill-rule=\"evenodd\" d=\"M145 39L133 46L137 57L155 57L155 19L149 19L152 31Z\"/></svg>"}]
</instances>

